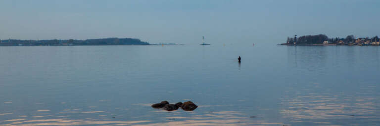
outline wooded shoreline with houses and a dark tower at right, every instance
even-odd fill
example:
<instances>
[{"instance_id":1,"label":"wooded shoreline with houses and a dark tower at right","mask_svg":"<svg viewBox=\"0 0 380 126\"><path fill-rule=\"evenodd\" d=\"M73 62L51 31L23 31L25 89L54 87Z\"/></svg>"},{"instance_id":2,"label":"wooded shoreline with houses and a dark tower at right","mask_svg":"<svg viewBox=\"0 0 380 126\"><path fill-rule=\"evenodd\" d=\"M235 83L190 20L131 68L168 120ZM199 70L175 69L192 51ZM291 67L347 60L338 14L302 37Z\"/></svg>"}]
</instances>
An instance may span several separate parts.
<instances>
[{"instance_id":1,"label":"wooded shoreline with houses and a dark tower at right","mask_svg":"<svg viewBox=\"0 0 380 126\"><path fill-rule=\"evenodd\" d=\"M331 45L358 45L358 46L379 46L380 40L376 35L375 37L359 37L355 38L354 35L348 35L346 38L329 38L325 34L318 35L304 35L297 38L287 37L286 43L279 45L304 45L304 46L331 46Z\"/></svg>"}]
</instances>

